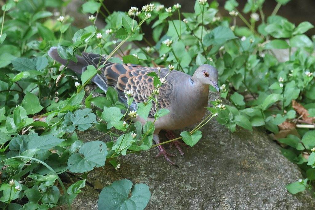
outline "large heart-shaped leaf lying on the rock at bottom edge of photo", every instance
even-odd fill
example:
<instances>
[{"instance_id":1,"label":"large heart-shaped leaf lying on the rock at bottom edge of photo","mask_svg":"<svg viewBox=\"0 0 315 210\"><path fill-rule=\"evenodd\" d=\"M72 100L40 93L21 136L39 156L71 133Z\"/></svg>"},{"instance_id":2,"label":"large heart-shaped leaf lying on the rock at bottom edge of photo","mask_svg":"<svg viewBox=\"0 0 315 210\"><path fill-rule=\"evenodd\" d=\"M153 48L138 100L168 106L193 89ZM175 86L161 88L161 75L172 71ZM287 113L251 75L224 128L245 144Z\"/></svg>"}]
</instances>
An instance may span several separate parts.
<instances>
[{"instance_id":1,"label":"large heart-shaped leaf lying on the rock at bottom edge of photo","mask_svg":"<svg viewBox=\"0 0 315 210\"><path fill-rule=\"evenodd\" d=\"M131 189L131 197L129 191ZM146 184L135 184L128 179L115 181L104 187L98 201L98 209L143 210L150 200L151 192Z\"/></svg>"}]
</instances>

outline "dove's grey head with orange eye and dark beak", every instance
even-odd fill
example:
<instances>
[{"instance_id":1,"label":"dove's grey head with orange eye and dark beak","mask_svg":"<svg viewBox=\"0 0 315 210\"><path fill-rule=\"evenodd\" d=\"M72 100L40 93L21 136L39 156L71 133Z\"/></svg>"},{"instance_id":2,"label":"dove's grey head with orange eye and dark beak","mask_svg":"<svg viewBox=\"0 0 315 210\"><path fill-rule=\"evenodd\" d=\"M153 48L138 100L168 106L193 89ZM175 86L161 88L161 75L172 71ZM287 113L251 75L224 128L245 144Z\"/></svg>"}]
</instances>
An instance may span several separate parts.
<instances>
[{"instance_id":1,"label":"dove's grey head with orange eye and dark beak","mask_svg":"<svg viewBox=\"0 0 315 210\"><path fill-rule=\"evenodd\" d=\"M192 76L194 80L201 82L203 84L212 85L220 92L220 88L218 87L218 70L212 65L203 64L198 67Z\"/></svg>"}]
</instances>

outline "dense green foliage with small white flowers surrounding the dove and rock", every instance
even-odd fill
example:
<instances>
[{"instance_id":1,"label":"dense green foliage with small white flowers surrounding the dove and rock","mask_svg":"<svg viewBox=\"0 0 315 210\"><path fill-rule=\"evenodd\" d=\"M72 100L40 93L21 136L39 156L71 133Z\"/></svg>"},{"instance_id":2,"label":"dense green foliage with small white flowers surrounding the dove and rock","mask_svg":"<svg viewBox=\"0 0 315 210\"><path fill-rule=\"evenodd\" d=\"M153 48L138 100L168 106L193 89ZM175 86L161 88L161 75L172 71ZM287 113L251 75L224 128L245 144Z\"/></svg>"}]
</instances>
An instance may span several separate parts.
<instances>
[{"instance_id":1,"label":"dense green foliage with small white flowers surrounding the dove and rock","mask_svg":"<svg viewBox=\"0 0 315 210\"><path fill-rule=\"evenodd\" d=\"M117 156L152 147L154 123L142 126L128 120L148 116L163 78L150 75L156 91L137 105L137 113L122 112L129 106L118 101L113 88L108 89L106 97L92 98L91 93L83 108L84 86L102 63L97 68L88 66L80 77L47 55L52 46L62 58L74 61L75 54L86 51L109 55L107 60L116 63L169 66L190 75L199 65L215 66L221 97L234 106L221 105L217 99L208 108L209 116L177 139L195 145L202 137L198 129L213 117L232 132L236 125L249 130L263 126L282 144L282 154L306 171L307 179L289 184L287 189L291 193L311 189L315 180L315 37L310 39L303 33L314 26L309 22L295 26L276 15L289 0L276 1L272 15L265 18L264 0L248 0L242 11L251 13L248 22L236 9L236 0L224 5L229 17L218 13L216 1L197 0L194 13L181 13L179 4L164 8L155 3L142 10L132 7L128 12L110 14L106 2L90 0L82 10L96 15L89 16L91 26L84 29L72 26L72 17L60 15L69 2L7 1L0 19L0 206L43 210L67 203L71 209L91 170L105 164L117 169ZM53 10L54 14L49 12ZM248 27L238 27L237 16ZM104 29L95 26L97 18L105 19ZM258 22L261 24L257 27ZM154 46L147 41L142 24L152 25ZM145 41L149 46L132 48L129 44L121 48L125 42L138 46L135 41ZM286 62L278 61L273 51L289 49L291 53L293 48L297 49ZM122 60L112 57L115 54ZM130 97L132 93L126 94ZM128 105L132 101L130 97ZM168 112L160 109L154 117ZM84 143L76 130L87 129L101 131L112 141L104 143L97 137ZM118 135L117 130L123 134ZM81 180L66 189L58 176L65 172L78 173ZM145 184L132 186L129 180L120 180L102 190L99 206L116 201L107 209L144 209L149 199Z\"/></svg>"}]
</instances>

